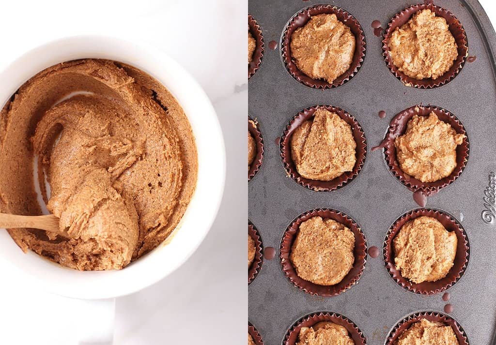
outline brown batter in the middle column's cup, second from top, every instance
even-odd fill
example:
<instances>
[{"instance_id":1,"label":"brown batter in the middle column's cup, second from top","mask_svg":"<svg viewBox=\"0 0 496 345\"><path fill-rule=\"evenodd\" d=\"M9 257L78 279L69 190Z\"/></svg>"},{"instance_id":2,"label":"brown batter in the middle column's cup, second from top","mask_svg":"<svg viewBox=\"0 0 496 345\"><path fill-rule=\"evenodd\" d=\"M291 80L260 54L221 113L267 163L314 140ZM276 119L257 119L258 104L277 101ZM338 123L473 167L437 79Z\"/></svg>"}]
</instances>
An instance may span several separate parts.
<instances>
[{"instance_id":1,"label":"brown batter in the middle column's cup, second from top","mask_svg":"<svg viewBox=\"0 0 496 345\"><path fill-rule=\"evenodd\" d=\"M291 136L291 157L305 178L330 181L355 167L357 143L339 115L318 109Z\"/></svg>"}]
</instances>

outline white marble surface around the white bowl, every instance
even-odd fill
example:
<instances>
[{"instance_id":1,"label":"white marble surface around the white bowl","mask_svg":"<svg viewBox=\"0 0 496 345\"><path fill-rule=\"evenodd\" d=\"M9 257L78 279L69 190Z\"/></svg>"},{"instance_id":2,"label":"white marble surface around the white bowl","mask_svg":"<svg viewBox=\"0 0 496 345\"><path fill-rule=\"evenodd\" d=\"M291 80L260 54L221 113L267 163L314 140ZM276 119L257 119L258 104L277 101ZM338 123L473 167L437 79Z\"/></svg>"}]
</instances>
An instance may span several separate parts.
<instances>
[{"instance_id":1,"label":"white marble surface around the white bowl","mask_svg":"<svg viewBox=\"0 0 496 345\"><path fill-rule=\"evenodd\" d=\"M228 177L219 214L181 268L149 288L117 299L114 344L245 343L247 2L5 1L1 11L0 70L44 42L104 34L139 37L163 49L203 86L226 142ZM77 344L77 334L84 331L74 315L78 303L2 277L0 344Z\"/></svg>"}]
</instances>

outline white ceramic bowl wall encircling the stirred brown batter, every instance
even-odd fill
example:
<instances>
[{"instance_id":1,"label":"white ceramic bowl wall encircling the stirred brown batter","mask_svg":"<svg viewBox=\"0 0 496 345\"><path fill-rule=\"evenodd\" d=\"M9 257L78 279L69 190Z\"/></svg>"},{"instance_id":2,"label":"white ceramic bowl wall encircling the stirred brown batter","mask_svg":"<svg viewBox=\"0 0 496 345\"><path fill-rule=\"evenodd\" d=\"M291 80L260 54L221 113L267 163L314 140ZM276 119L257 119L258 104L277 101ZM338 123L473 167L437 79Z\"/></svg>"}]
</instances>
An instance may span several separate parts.
<instances>
[{"instance_id":1,"label":"white ceramic bowl wall encircling the stirred brown batter","mask_svg":"<svg viewBox=\"0 0 496 345\"><path fill-rule=\"evenodd\" d=\"M224 141L209 99L176 61L152 46L112 37L69 37L22 55L0 72L0 103L3 105L39 71L78 58L122 61L155 77L176 97L186 112L198 150L196 190L172 240L159 245L121 271L80 272L63 268L31 251L23 253L8 233L0 230L3 281L28 284L73 298L111 298L157 282L178 268L198 247L214 221L222 197Z\"/></svg>"}]
</instances>

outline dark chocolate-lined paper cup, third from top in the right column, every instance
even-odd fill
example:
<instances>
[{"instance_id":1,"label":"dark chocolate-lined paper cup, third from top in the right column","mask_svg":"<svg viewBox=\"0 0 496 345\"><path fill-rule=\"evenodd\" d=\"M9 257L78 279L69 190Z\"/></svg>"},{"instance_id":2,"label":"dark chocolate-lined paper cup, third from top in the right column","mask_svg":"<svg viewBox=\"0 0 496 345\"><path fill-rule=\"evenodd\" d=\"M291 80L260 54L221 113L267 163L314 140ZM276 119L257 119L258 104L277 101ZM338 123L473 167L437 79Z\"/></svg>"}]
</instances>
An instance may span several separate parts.
<instances>
[{"instance_id":1,"label":"dark chocolate-lined paper cup, third from top in the right column","mask_svg":"<svg viewBox=\"0 0 496 345\"><path fill-rule=\"evenodd\" d=\"M456 233L458 243L456 245L456 255L453 261L453 267L451 267L446 277L435 282L423 282L420 284L415 284L407 278L403 278L400 271L396 269L396 266L394 264L393 239L394 237L396 237L405 223L421 216L433 217L437 219L443 225L443 227L446 228L446 230L454 231ZM454 217L451 217L447 213L436 209L425 208L410 211L398 218L393 223L386 234L383 252L386 268L389 272L389 275L396 281L396 283L398 283L398 285L400 285L402 288L405 288L409 291L425 295L432 295L442 292L458 282L458 280L465 273L465 269L467 268L470 257L470 247L467 233L460 225L460 223L458 223L458 221Z\"/></svg>"}]
</instances>

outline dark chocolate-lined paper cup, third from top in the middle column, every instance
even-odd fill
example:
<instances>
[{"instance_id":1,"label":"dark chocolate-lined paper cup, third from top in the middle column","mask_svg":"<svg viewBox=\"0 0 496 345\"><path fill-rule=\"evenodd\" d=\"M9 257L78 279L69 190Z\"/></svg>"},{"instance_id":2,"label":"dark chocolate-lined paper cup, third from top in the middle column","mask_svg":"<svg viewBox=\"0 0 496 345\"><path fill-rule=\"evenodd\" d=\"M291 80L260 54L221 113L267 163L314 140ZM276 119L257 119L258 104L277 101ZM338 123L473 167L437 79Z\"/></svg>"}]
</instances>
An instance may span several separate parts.
<instances>
[{"instance_id":1,"label":"dark chocolate-lined paper cup, third from top in the middle column","mask_svg":"<svg viewBox=\"0 0 496 345\"><path fill-rule=\"evenodd\" d=\"M341 282L335 285L317 285L298 277L295 267L293 266L293 263L290 259L291 247L293 246L293 243L296 239L300 224L315 216L330 218L335 220L336 222L344 224L351 231L353 231L353 234L355 235L355 248L353 249L355 261L353 263L353 267L350 272L348 272L346 277L344 277ZM284 232L281 240L280 258L282 270L286 274L286 277L288 277L289 280L296 287L300 288L300 290L305 291L306 293L310 293L311 295L330 297L338 295L348 288L351 288L353 285L357 284L360 276L365 269L365 262L367 259L367 241L365 240L365 236L362 230L360 230L360 227L357 225L357 223L355 223L353 219L351 219L344 213L332 209L314 209L298 216Z\"/></svg>"}]
</instances>

